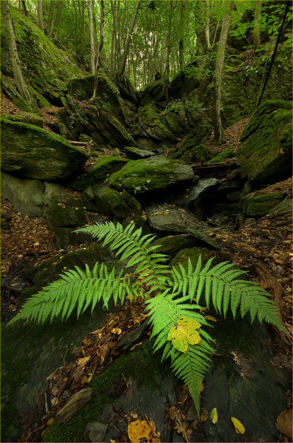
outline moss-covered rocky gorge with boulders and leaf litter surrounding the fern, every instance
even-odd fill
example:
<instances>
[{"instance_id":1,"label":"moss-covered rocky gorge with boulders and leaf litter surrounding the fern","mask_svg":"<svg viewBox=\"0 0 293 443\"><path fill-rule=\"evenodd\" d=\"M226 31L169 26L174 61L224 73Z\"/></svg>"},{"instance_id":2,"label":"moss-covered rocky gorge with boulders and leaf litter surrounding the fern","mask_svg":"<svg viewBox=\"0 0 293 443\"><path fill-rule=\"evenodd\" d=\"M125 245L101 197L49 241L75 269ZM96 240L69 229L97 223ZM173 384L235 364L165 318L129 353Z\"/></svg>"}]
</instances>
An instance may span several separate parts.
<instances>
[{"instance_id":1,"label":"moss-covered rocky gorge with boulders and leaf litter surrounding the fern","mask_svg":"<svg viewBox=\"0 0 293 443\"><path fill-rule=\"evenodd\" d=\"M227 48L227 63L235 73L223 78L225 143L215 148L208 112L191 128L178 111L163 105L161 79L140 94L129 81L115 82L105 70L91 100L94 76L84 75L73 57L58 50L26 17L19 17L18 25L17 32L27 36L18 51L40 108L33 113L20 101L1 34L1 94L10 106L5 112L1 107L0 122L1 231L6 242L1 289L3 299L17 300L16 309L13 305L1 317L2 441L128 441L123 440L128 438L125 426L144 420L145 414L160 433L158 437L153 430L154 438L162 442L184 442L186 437L194 442L277 441L275 422L290 407L292 394L291 342L265 323L251 325L240 316L224 320L209 311L217 319L209 332L216 340L216 354L201 408L210 412L217 407L219 421L213 427L204 411L198 417L169 362L161 364L160 352L152 354L140 301L113 303L109 313L100 304L78 321L72 316L44 325L7 323L21 303L64 270L85 269L86 264L92 269L97 261L119 269L108 247L76 232L113 221L123 227L135 223L143 234L155 234L157 251L168 255L171 265L184 267L188 257L196 265L201 254L204 262L215 256L249 270L249 278L270 289L283 324L292 332L292 297L291 304L285 299L292 288L289 55L281 57L288 71L274 67L266 97L253 113L257 80L250 79L248 90L248 80L238 69L243 52ZM205 60L209 62L208 55ZM280 72L285 77L279 88L274 79ZM170 84L174 99L176 81L178 77ZM241 82L246 90L239 87ZM209 103L206 80L191 78L188 85L189 94ZM233 138L229 129L240 120L243 124ZM7 202L12 207L5 206ZM26 244L24 252L18 251L21 257L12 254L13 262L6 244L13 238L15 217L22 223L41 220L44 230L39 231L50 237L48 248L36 245L31 250ZM276 258L277 246L286 259L283 253ZM80 363L83 358L87 360ZM65 410L68 404L70 412ZM236 440L230 417L245 424L246 440Z\"/></svg>"}]
</instances>

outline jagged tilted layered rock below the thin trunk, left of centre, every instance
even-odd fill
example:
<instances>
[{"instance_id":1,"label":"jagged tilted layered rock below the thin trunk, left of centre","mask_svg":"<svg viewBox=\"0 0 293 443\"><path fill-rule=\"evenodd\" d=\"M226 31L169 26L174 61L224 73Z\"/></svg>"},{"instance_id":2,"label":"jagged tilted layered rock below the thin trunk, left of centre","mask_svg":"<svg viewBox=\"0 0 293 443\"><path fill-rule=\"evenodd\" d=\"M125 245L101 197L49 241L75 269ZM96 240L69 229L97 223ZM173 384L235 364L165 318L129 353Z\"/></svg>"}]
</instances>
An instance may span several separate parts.
<instances>
[{"instance_id":1,"label":"jagged tilted layered rock below the thin trunk, left of centre","mask_svg":"<svg viewBox=\"0 0 293 443\"><path fill-rule=\"evenodd\" d=\"M80 108L70 95L62 97L62 103L64 108L58 113L59 119L75 139L85 134L97 148L108 146L110 149L123 149L125 146L137 146L110 108L106 110L105 107L94 105Z\"/></svg>"}]
</instances>

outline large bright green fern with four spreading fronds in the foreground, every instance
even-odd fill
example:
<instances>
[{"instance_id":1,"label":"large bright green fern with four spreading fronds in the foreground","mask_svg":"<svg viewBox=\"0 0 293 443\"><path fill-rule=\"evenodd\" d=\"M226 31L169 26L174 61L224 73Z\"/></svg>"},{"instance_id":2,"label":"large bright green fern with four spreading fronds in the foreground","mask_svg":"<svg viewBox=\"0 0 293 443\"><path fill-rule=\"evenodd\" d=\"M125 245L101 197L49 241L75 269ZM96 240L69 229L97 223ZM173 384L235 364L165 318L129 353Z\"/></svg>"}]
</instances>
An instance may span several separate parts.
<instances>
[{"instance_id":1,"label":"large bright green fern with four spreading fronds in the foreground","mask_svg":"<svg viewBox=\"0 0 293 443\"><path fill-rule=\"evenodd\" d=\"M120 223L116 226L112 222L97 223L77 231L88 232L98 241L104 238L103 246L111 243L109 249L111 251L117 249L116 256L122 254L120 260L128 260L126 268L131 268L132 272L124 273L122 269L118 275L115 275L115 268L109 272L104 263L98 267L98 262L92 271L87 265L85 271L75 266L75 270L64 272L60 275L60 280L49 284L28 299L10 323L18 319L44 322L49 316L51 321L54 316L60 316L62 320L65 317L68 319L74 308L77 310L78 318L90 305L93 311L101 299L106 308L112 296L115 304L118 299L123 303L126 295L129 295L131 301L133 297L136 299L138 290L142 288L144 282L148 291L144 294L141 289L141 296L148 297L154 290L157 292L154 297L145 301L153 328L151 336L156 337L154 351L163 347L162 359L171 357L173 370L188 385L198 414L202 381L209 368L209 355L213 353L210 345L213 339L204 328L201 328L209 325L200 314L201 299L205 299L207 306L213 304L217 312L222 311L224 317L230 305L235 318L236 309L240 304L242 317L249 312L251 322L257 316L260 322L265 319L288 333L279 319L276 304L268 298L270 294L258 283L237 280L243 271L234 269L231 263L222 262L211 267L212 258L202 268L199 257L195 269L190 259L187 271L182 265L179 265L179 270L174 267L170 269L161 264L167 256L154 252L158 247L151 245L155 236L149 234L141 237L142 229L135 230L135 224L123 229ZM182 326L184 322L180 323L183 319L187 325L188 322L190 325L197 325L195 329L199 333L193 330L196 340L189 342L187 340L185 348L181 348L176 341L172 339L171 342L168 338L172 331L176 331L175 334L179 336L182 334L183 339L188 337L187 330ZM196 341L199 342L190 344Z\"/></svg>"}]
</instances>

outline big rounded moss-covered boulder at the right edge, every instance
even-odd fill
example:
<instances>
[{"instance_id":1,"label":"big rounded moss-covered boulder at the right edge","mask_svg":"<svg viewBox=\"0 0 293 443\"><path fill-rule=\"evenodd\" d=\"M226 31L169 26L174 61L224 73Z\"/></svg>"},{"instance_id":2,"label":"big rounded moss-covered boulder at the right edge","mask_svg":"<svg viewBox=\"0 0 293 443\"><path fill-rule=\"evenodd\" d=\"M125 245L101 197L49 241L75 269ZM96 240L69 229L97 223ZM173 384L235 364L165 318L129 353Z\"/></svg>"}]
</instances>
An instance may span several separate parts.
<instances>
[{"instance_id":1,"label":"big rounded moss-covered boulder at the right edge","mask_svg":"<svg viewBox=\"0 0 293 443\"><path fill-rule=\"evenodd\" d=\"M292 103L268 100L241 134L237 151L241 177L272 184L292 175Z\"/></svg>"}]
</instances>

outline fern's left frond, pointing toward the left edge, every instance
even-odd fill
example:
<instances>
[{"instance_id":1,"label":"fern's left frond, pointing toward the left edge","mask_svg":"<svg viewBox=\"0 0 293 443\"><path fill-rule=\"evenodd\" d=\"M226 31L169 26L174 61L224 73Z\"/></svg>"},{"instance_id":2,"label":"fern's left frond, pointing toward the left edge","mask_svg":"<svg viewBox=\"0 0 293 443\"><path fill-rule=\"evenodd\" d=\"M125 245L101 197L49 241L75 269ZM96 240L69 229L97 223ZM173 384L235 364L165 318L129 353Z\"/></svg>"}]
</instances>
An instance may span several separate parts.
<instances>
[{"instance_id":1,"label":"fern's left frond, pointing toward the left edge","mask_svg":"<svg viewBox=\"0 0 293 443\"><path fill-rule=\"evenodd\" d=\"M96 268L96 266L95 266ZM108 308L108 301L113 295L115 303L118 297L121 303L126 295L137 297L137 285L130 283L130 278L121 278L123 270L115 277L115 268L109 273L104 264L101 265L99 276L91 276L75 266L76 271L66 271L60 275L61 279L43 288L38 294L33 295L23 305L20 312L10 323L19 319L32 319L44 323L51 314L54 316L62 313L62 320L73 312L77 305L77 318L81 310L90 305L93 311L96 304L102 299L104 306ZM95 272L96 274L96 272ZM83 308L83 309L82 309Z\"/></svg>"}]
</instances>

